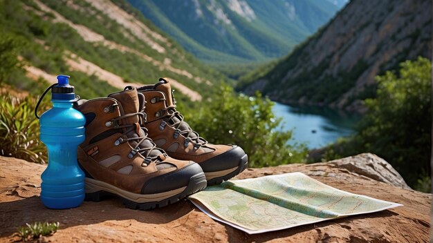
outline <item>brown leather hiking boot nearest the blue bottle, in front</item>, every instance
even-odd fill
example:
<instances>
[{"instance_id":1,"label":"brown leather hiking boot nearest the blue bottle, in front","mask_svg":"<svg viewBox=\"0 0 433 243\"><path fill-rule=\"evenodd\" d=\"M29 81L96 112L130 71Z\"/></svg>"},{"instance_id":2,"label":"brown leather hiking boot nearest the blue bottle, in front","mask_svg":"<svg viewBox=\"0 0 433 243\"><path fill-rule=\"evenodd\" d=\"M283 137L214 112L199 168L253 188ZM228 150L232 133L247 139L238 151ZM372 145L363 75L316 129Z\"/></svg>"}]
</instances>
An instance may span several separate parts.
<instances>
[{"instance_id":1,"label":"brown leather hiking boot nearest the blue bottle, in front","mask_svg":"<svg viewBox=\"0 0 433 243\"><path fill-rule=\"evenodd\" d=\"M129 208L167 206L206 187L201 167L169 157L147 137L145 97L135 88L107 98L79 100L74 108L86 117L86 140L78 162L86 173L86 199L122 197Z\"/></svg>"}]
</instances>

